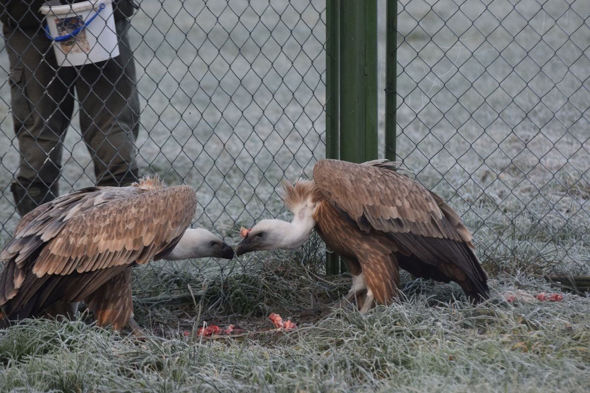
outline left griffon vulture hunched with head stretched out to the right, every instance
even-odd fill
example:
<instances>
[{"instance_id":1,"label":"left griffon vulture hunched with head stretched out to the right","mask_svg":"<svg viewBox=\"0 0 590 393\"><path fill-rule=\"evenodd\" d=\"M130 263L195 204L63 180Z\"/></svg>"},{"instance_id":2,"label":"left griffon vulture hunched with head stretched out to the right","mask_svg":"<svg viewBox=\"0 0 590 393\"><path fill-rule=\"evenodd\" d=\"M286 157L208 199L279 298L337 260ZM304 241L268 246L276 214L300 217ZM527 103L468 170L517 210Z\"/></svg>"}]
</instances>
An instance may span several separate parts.
<instances>
[{"instance_id":1,"label":"left griffon vulture hunched with head stretched out to the right","mask_svg":"<svg viewBox=\"0 0 590 393\"><path fill-rule=\"evenodd\" d=\"M189 186L163 188L158 177L129 187L89 187L22 217L0 252L0 327L10 320L76 313L100 326L133 321L131 267L150 259L231 259L234 251L205 229L187 229L196 209Z\"/></svg>"}]
</instances>

